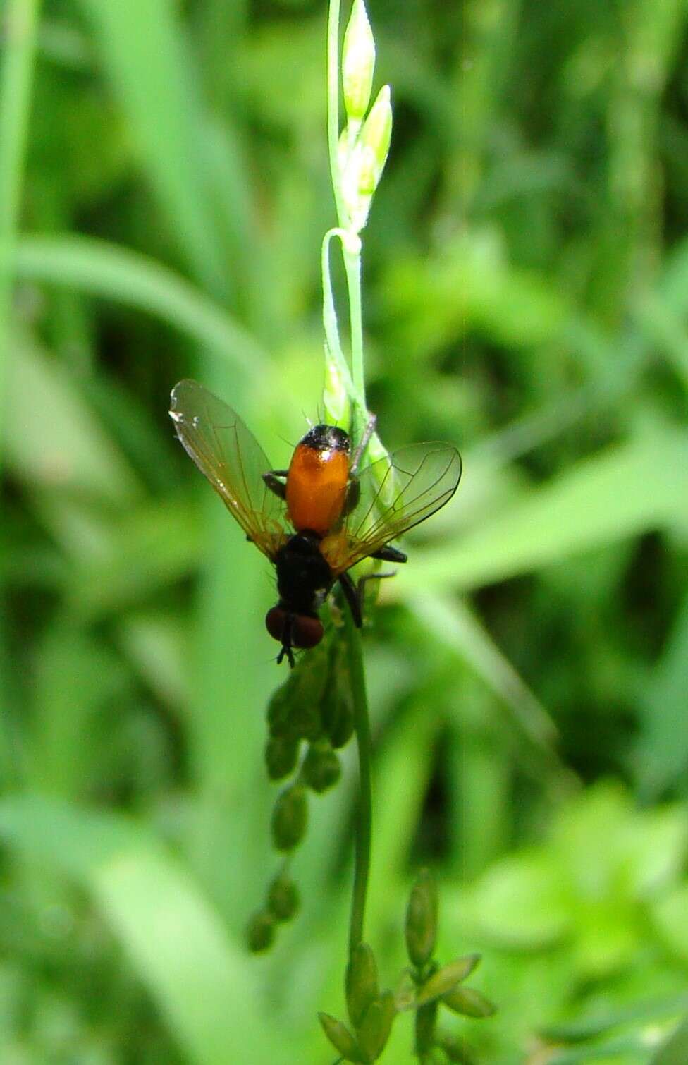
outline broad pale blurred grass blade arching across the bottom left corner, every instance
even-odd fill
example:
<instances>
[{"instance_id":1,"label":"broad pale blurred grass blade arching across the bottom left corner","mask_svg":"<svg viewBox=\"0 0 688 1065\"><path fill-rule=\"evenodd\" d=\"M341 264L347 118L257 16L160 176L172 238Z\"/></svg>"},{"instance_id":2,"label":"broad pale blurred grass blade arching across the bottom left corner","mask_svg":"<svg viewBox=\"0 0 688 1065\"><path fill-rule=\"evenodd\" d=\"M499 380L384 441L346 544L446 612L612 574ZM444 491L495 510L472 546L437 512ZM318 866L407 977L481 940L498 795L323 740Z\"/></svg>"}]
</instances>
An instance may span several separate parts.
<instances>
[{"instance_id":1,"label":"broad pale blurred grass blade arching across the bottom left corner","mask_svg":"<svg viewBox=\"0 0 688 1065\"><path fill-rule=\"evenodd\" d=\"M0 802L0 837L94 898L190 1065L279 1061L259 1013L247 958L228 940L189 872L146 833L112 814L39 797Z\"/></svg>"}]
</instances>

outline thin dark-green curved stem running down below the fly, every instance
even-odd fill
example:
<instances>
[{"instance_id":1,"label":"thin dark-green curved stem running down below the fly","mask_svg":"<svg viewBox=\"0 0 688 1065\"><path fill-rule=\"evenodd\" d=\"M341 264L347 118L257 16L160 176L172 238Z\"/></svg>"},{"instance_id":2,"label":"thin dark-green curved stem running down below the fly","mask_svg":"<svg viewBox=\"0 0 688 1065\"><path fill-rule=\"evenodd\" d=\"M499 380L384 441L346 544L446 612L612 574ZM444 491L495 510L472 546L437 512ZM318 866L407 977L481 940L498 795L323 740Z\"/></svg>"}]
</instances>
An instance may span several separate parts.
<instances>
[{"instance_id":1,"label":"thin dark-green curved stem running down below the fly","mask_svg":"<svg viewBox=\"0 0 688 1065\"><path fill-rule=\"evenodd\" d=\"M356 849L354 855L354 892L351 896L351 917L349 921L349 953L363 940L365 919L365 897L371 868L371 839L373 832L373 792L371 786L371 725L365 692L365 674L361 634L354 624L350 611L345 610L346 644L348 651L356 741L358 744L359 796L356 824Z\"/></svg>"}]
</instances>

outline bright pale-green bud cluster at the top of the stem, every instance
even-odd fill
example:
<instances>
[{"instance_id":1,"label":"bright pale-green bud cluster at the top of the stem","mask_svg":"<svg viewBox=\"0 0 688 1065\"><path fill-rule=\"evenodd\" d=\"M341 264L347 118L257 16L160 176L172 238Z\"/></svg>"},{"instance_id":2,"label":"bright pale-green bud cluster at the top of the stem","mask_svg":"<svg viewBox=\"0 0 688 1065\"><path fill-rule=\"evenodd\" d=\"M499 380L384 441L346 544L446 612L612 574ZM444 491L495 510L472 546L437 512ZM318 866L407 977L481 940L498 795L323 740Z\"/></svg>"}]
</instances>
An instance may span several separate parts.
<instances>
[{"instance_id":1,"label":"bright pale-green bud cluster at the top of the stem","mask_svg":"<svg viewBox=\"0 0 688 1065\"><path fill-rule=\"evenodd\" d=\"M383 85L368 112L375 42L363 0L354 0L344 34L342 80L346 127L340 138L341 192L349 216L349 229L365 226L392 136L390 86Z\"/></svg>"}]
</instances>

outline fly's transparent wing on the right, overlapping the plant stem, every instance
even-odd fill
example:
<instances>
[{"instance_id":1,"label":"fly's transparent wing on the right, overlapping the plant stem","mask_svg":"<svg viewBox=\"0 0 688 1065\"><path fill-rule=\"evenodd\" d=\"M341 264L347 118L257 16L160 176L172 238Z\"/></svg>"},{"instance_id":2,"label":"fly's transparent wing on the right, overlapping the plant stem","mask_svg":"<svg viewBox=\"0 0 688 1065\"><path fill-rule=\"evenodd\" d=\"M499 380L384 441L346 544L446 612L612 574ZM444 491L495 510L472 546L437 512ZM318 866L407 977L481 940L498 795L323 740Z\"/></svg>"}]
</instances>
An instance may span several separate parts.
<instances>
[{"instance_id":1,"label":"fly's transparent wing on the right, overlapping the plant stem","mask_svg":"<svg viewBox=\"0 0 688 1065\"><path fill-rule=\"evenodd\" d=\"M452 498L461 478L461 456L445 443L411 444L367 466L360 497L344 527L323 541L335 574L425 521Z\"/></svg>"}]
</instances>

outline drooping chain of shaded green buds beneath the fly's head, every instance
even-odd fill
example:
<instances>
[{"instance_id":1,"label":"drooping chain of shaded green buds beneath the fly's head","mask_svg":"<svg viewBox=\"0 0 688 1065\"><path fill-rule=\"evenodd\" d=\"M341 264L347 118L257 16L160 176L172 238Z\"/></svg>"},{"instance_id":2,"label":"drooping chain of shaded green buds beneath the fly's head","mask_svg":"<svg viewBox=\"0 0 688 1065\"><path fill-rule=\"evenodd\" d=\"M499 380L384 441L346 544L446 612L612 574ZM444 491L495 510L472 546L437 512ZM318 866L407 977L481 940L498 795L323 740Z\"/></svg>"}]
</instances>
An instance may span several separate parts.
<instances>
[{"instance_id":1,"label":"drooping chain of shaded green buds beneath the fly's head","mask_svg":"<svg viewBox=\"0 0 688 1065\"><path fill-rule=\"evenodd\" d=\"M338 783L342 770L337 750L354 732L348 663L332 629L276 690L267 706L267 775L272 781L286 781L271 822L273 846L285 856L285 865L269 885L265 906L248 922L248 947L256 953L267 950L277 924L291 920L298 911L298 894L286 863L308 831L308 792L322 794Z\"/></svg>"}]
</instances>

